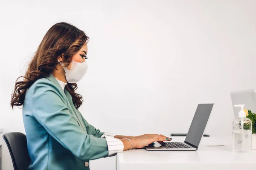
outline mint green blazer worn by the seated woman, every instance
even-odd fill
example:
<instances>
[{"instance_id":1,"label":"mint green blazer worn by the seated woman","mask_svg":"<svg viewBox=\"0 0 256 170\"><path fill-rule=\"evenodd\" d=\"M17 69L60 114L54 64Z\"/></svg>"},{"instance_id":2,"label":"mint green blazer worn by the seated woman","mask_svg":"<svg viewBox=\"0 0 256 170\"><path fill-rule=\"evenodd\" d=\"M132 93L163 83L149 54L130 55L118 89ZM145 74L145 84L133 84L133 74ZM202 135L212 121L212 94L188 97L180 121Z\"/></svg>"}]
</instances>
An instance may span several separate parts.
<instances>
[{"instance_id":1,"label":"mint green blazer worn by the seated woman","mask_svg":"<svg viewBox=\"0 0 256 170\"><path fill-rule=\"evenodd\" d=\"M104 133L88 124L52 74L26 92L23 123L29 170L89 170L89 160L108 156Z\"/></svg>"}]
</instances>

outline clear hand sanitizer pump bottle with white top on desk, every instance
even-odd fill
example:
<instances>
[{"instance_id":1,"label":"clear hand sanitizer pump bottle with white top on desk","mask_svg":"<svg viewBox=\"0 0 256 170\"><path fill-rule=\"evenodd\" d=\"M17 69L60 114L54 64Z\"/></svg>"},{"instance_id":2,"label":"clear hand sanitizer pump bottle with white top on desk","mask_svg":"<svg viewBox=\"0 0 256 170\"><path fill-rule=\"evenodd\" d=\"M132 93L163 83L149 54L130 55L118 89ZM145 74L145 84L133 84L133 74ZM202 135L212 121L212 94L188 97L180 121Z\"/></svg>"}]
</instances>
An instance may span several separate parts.
<instances>
[{"instance_id":1,"label":"clear hand sanitizer pump bottle with white top on desk","mask_svg":"<svg viewBox=\"0 0 256 170\"><path fill-rule=\"evenodd\" d=\"M252 121L246 117L244 105L241 107L239 117L233 120L233 151L251 152L252 150Z\"/></svg>"}]
</instances>

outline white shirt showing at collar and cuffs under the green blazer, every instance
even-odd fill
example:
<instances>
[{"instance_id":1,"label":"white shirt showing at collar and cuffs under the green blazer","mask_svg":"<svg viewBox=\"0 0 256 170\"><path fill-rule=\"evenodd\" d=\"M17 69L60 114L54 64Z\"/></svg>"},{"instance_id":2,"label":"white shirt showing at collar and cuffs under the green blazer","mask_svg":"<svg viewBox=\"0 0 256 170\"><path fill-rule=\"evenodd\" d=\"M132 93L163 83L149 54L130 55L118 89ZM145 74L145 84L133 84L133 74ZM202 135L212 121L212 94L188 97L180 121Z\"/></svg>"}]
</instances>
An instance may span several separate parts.
<instances>
[{"instance_id":1,"label":"white shirt showing at collar and cuffs under the green blazer","mask_svg":"<svg viewBox=\"0 0 256 170\"><path fill-rule=\"evenodd\" d=\"M57 79L55 77L55 79ZM57 79L59 84L61 85L62 90L64 90L67 83L62 82L61 80ZM124 144L120 139L114 138L116 134L105 132L101 138L106 138L107 145L108 145L108 156L111 156L115 153L122 152L124 150Z\"/></svg>"}]
</instances>

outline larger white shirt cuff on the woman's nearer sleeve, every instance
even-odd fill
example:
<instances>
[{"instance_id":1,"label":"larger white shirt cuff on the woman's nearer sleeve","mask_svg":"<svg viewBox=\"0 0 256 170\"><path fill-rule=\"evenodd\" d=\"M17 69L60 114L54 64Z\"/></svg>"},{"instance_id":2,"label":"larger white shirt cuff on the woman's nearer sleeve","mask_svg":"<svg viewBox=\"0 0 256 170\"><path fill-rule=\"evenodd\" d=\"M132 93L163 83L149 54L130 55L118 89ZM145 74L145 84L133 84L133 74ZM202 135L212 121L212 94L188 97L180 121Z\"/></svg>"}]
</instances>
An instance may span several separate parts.
<instances>
[{"instance_id":1,"label":"larger white shirt cuff on the woman's nearer sleeve","mask_svg":"<svg viewBox=\"0 0 256 170\"><path fill-rule=\"evenodd\" d=\"M124 151L124 144L120 139L116 139L113 136L104 136L104 134L102 135L102 138L106 138L108 156L113 156L113 154Z\"/></svg>"}]
</instances>

